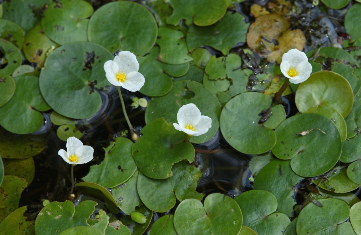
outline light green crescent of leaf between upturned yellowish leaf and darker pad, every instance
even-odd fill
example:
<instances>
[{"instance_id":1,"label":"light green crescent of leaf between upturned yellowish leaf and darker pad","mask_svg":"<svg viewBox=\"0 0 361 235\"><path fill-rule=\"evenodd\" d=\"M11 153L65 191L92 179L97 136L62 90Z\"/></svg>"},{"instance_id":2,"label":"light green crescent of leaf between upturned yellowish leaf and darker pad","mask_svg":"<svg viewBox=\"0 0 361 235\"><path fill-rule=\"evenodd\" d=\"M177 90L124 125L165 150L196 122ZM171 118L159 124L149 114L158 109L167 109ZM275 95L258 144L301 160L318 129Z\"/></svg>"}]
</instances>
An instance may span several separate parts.
<instances>
[{"instance_id":1,"label":"light green crescent of leaf between upturned yellowish leaf and darker pad","mask_svg":"<svg viewBox=\"0 0 361 235\"><path fill-rule=\"evenodd\" d=\"M326 105L319 105L314 113L321 114L334 122L337 128L340 131L342 141L346 140L347 137L347 126L345 119L343 119L342 115L337 112L336 109L331 108L330 106Z\"/></svg>"}]
</instances>

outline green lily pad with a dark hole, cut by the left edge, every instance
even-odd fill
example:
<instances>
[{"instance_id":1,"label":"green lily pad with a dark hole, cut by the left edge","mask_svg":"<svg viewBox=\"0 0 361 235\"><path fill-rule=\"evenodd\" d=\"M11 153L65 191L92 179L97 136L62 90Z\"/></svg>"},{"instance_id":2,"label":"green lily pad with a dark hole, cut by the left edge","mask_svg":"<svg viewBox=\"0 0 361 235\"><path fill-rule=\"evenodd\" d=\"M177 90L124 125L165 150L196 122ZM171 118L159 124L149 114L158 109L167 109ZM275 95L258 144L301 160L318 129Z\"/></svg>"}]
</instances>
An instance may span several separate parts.
<instances>
[{"instance_id":1,"label":"green lily pad with a dark hole, cut by the left edge","mask_svg":"<svg viewBox=\"0 0 361 235\"><path fill-rule=\"evenodd\" d=\"M12 43L0 39L0 47L3 48L3 52L5 56L1 60L1 74L13 74L14 70L21 65L22 56L19 49Z\"/></svg>"}]
</instances>

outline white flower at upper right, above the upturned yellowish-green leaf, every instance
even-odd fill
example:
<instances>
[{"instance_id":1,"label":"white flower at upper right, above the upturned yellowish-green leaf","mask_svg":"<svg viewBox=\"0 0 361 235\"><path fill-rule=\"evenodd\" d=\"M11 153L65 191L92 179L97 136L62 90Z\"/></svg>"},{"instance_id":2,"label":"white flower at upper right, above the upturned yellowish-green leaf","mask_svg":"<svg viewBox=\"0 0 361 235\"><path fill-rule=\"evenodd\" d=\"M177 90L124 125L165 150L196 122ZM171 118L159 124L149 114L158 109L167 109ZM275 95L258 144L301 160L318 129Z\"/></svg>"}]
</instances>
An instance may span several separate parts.
<instances>
[{"instance_id":1,"label":"white flower at upper right, above the upturned yellowish-green leaf","mask_svg":"<svg viewBox=\"0 0 361 235\"><path fill-rule=\"evenodd\" d=\"M291 49L283 54L281 71L284 76L290 79L290 83L298 84L310 77L312 65L308 62L305 53Z\"/></svg>"}]
</instances>

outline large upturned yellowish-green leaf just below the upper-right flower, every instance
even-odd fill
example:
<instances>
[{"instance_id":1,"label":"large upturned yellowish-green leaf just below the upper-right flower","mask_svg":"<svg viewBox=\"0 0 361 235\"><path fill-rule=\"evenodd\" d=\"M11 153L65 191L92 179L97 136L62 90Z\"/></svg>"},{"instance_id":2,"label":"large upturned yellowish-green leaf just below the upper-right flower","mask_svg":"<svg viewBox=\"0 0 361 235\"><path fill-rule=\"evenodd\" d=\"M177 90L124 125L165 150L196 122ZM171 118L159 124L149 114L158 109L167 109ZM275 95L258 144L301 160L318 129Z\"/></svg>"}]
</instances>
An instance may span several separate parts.
<instances>
[{"instance_id":1,"label":"large upturned yellowish-green leaf just below the upper-right flower","mask_svg":"<svg viewBox=\"0 0 361 235\"><path fill-rule=\"evenodd\" d=\"M295 102L301 113L312 113L322 104L334 108L345 118L352 108L353 93L344 77L331 71L320 71L300 84Z\"/></svg>"}]
</instances>

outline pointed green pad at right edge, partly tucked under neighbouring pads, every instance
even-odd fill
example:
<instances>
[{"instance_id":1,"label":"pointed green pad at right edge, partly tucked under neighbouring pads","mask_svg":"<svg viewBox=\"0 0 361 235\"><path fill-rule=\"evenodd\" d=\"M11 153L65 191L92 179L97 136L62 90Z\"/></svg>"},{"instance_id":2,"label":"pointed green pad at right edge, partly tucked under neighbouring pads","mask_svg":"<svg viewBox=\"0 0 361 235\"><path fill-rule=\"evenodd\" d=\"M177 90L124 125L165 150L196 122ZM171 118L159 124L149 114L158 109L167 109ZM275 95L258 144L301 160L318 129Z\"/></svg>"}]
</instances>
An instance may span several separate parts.
<instances>
[{"instance_id":1,"label":"pointed green pad at right edge, partly tucked under neighbouring pads","mask_svg":"<svg viewBox=\"0 0 361 235\"><path fill-rule=\"evenodd\" d=\"M327 181L317 184L318 187L335 193L351 192L352 190L360 187L360 184L352 182L352 180L347 177L346 170L346 167L342 169L338 169L338 167L336 167L335 170L332 170L325 176Z\"/></svg>"}]
</instances>

